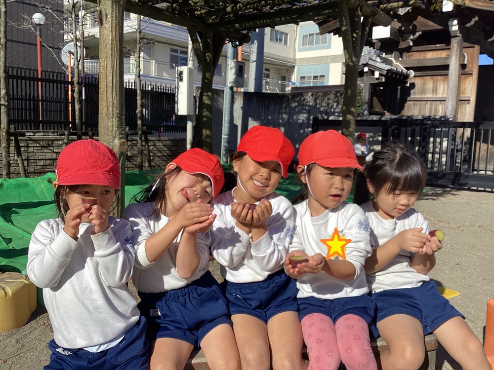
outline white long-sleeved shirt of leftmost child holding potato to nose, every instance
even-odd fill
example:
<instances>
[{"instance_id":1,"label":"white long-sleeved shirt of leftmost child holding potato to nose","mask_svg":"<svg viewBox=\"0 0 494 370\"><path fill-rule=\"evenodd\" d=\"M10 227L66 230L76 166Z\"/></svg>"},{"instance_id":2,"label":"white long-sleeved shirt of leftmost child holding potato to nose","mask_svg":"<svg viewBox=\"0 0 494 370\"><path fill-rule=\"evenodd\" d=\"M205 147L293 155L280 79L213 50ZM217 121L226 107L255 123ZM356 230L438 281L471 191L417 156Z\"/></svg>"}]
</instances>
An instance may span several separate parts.
<instances>
[{"instance_id":1,"label":"white long-sleeved shirt of leftmost child holding potato to nose","mask_svg":"<svg viewBox=\"0 0 494 370\"><path fill-rule=\"evenodd\" d=\"M65 348L96 346L122 337L139 319L128 290L134 264L132 229L122 219L91 235L82 223L79 242L59 219L41 221L29 244L27 272L43 288L55 342Z\"/></svg>"}]
</instances>

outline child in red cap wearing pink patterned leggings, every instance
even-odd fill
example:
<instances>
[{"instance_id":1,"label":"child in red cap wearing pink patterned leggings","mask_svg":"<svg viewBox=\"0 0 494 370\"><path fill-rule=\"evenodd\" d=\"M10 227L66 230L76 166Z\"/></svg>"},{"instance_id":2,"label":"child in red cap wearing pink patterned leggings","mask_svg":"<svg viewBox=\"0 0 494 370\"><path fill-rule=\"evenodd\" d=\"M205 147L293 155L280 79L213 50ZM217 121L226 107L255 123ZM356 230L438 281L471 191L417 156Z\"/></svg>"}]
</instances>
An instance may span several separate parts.
<instances>
[{"instance_id":1,"label":"child in red cap wearing pink patterned leggings","mask_svg":"<svg viewBox=\"0 0 494 370\"><path fill-rule=\"evenodd\" d=\"M371 255L370 228L360 207L345 201L355 170L362 167L350 140L334 130L309 135L298 162L306 200L295 205L296 229L285 271L297 279L309 369L336 370L342 361L349 370L375 370L369 336L375 305L364 271ZM339 240L350 239L344 258L332 258L332 246L322 240L335 229ZM308 261L294 268L292 256Z\"/></svg>"}]
</instances>

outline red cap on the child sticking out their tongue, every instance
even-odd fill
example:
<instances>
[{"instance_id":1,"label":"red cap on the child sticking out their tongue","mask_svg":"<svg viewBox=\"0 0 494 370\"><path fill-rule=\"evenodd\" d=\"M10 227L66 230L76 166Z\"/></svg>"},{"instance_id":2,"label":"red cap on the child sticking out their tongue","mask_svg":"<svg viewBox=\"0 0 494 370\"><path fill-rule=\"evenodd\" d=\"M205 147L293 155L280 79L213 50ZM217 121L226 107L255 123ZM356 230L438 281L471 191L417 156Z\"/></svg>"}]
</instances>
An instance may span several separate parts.
<instances>
[{"instance_id":1,"label":"red cap on the child sticking out their tongue","mask_svg":"<svg viewBox=\"0 0 494 370\"><path fill-rule=\"evenodd\" d=\"M178 167L189 174L203 174L211 180L213 198L218 195L225 184L223 167L214 154L200 148L192 148L184 151L172 160Z\"/></svg>"}]
</instances>

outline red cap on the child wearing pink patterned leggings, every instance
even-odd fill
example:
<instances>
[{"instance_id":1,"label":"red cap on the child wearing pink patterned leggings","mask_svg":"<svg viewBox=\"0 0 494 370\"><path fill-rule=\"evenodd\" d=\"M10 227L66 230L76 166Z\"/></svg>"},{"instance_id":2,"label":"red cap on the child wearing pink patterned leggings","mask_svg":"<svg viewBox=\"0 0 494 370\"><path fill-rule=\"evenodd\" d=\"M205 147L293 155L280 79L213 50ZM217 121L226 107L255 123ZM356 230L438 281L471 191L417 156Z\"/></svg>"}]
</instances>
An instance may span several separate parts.
<instances>
[{"instance_id":1,"label":"red cap on the child wearing pink patterned leggings","mask_svg":"<svg viewBox=\"0 0 494 370\"><path fill-rule=\"evenodd\" d=\"M362 170L350 140L338 131L318 131L305 138L298 149L298 164L317 163L324 167L352 167Z\"/></svg>"}]
</instances>

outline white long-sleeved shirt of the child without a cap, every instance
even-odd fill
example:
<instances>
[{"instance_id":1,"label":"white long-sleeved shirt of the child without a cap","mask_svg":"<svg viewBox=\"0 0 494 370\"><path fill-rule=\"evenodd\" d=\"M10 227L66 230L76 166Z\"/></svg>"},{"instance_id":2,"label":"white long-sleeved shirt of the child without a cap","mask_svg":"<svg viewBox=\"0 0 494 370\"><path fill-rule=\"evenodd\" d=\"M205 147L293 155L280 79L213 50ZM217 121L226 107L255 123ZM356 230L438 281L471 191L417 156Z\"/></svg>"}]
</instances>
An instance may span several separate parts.
<instances>
[{"instance_id":1,"label":"white long-sleeved shirt of the child without a cap","mask_svg":"<svg viewBox=\"0 0 494 370\"><path fill-rule=\"evenodd\" d=\"M414 227L423 227L422 232L429 232L429 224L424 217L411 208L400 217L392 220L381 218L372 206L372 201L361 205L371 225L372 249L386 243L399 232ZM414 253L402 250L381 270L367 275L369 289L372 293L387 289L415 288L429 281L428 275L419 274L411 266Z\"/></svg>"}]
</instances>

